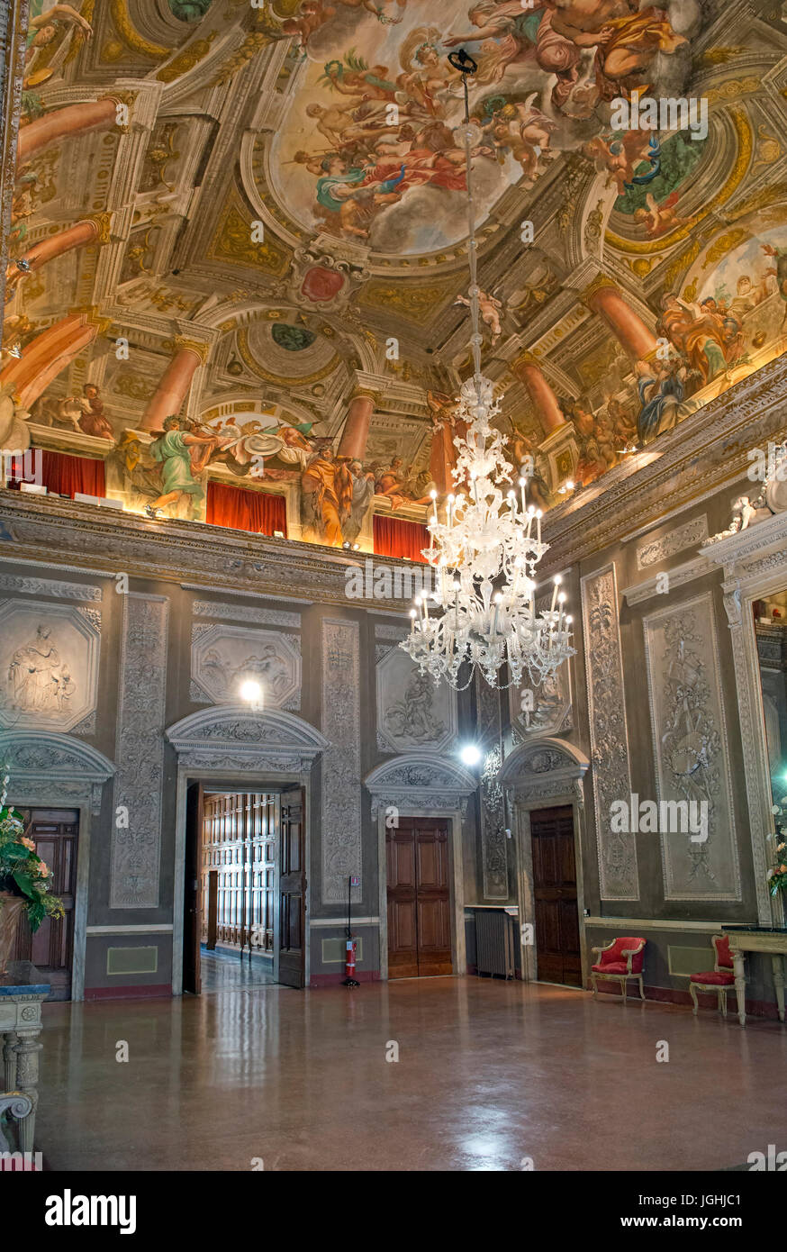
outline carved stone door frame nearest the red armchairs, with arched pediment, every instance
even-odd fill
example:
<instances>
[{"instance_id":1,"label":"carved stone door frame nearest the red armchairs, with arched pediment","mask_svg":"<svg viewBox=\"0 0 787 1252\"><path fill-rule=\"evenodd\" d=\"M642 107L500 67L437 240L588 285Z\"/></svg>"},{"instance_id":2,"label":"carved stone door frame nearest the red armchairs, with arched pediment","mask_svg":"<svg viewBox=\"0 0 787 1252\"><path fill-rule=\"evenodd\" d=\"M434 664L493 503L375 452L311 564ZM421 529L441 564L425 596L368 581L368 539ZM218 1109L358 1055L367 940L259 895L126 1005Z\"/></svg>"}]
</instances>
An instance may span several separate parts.
<instances>
[{"instance_id":1,"label":"carved stone door frame nearest the red armchairs, with arched pediment","mask_svg":"<svg viewBox=\"0 0 787 1252\"><path fill-rule=\"evenodd\" d=\"M533 923L533 944L522 947L522 978L531 983L538 975L536 945L536 904L533 885L533 845L531 813L536 809L557 809L571 805L574 824L574 864L577 870L577 925L582 987L588 979L588 948L584 926L584 873L582 848L586 835L583 780L589 759L564 739L543 736L520 744L505 759L500 771L503 786L517 834L517 901L520 925Z\"/></svg>"}]
</instances>

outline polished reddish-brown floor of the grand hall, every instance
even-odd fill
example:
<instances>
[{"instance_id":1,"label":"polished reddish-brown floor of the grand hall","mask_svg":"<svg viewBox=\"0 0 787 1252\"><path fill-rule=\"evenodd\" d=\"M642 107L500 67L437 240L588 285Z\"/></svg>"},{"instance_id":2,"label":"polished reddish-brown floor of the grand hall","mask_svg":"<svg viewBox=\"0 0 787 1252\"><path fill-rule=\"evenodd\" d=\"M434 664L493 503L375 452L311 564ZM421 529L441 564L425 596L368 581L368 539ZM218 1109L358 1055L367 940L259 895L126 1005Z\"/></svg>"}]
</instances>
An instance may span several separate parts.
<instances>
[{"instance_id":1,"label":"polished reddish-brown floor of the grand hall","mask_svg":"<svg viewBox=\"0 0 787 1252\"><path fill-rule=\"evenodd\" d=\"M46 1004L36 1147L53 1169L724 1169L787 1149L786 1072L776 1022L477 978Z\"/></svg>"}]
</instances>

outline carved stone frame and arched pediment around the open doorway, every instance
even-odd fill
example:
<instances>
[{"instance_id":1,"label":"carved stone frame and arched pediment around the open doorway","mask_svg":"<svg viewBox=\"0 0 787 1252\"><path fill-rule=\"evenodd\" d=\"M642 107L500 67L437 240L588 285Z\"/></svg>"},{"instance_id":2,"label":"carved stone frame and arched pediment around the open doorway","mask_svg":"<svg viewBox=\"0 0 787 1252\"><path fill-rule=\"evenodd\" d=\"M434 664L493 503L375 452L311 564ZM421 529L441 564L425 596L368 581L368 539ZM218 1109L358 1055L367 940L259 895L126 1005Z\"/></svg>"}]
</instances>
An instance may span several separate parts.
<instances>
[{"instance_id":1,"label":"carved stone frame and arched pediment around the open doorway","mask_svg":"<svg viewBox=\"0 0 787 1252\"><path fill-rule=\"evenodd\" d=\"M175 864L173 878L173 995L183 994L183 883L186 844L186 788L191 782L220 782L239 791L265 791L282 784L304 788L304 839L307 874L307 924L304 933L304 985L309 985L309 916L312 881L310 814L312 766L329 746L324 735L303 717L270 709L255 712L248 705L213 705L183 717L166 730L178 756L175 801ZM277 849L274 925L279 930L279 851ZM278 952L274 948L274 975Z\"/></svg>"}]
</instances>

